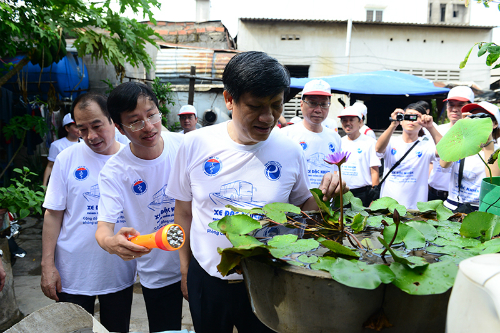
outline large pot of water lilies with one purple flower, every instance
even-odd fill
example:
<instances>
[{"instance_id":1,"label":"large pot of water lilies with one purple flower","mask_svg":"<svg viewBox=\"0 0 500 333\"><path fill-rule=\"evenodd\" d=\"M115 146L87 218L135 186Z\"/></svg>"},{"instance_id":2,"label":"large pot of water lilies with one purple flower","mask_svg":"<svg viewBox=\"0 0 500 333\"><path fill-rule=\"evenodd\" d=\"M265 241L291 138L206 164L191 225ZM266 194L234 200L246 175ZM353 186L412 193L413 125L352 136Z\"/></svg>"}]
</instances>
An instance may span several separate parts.
<instances>
[{"instance_id":1,"label":"large pot of water lilies with one purple flower","mask_svg":"<svg viewBox=\"0 0 500 333\"><path fill-rule=\"evenodd\" d=\"M311 192L319 212L228 206L235 215L210 224L233 244L219 249L219 271L243 272L254 312L278 332L443 332L457 264L500 250L490 213L454 214L440 200L407 211L388 197L368 209L350 192L332 208Z\"/></svg>"}]
</instances>

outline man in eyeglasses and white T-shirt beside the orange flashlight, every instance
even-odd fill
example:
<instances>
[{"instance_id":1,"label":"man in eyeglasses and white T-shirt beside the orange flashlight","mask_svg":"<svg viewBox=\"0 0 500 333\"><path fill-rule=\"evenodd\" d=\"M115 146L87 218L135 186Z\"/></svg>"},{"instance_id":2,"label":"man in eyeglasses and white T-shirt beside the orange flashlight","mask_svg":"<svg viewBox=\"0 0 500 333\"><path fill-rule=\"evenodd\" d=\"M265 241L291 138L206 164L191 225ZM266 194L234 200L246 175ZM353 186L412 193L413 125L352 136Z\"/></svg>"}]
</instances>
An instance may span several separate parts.
<instances>
[{"instance_id":1,"label":"man in eyeglasses and white T-shirt beside the orange flashlight","mask_svg":"<svg viewBox=\"0 0 500 333\"><path fill-rule=\"evenodd\" d=\"M174 222L175 200L165 194L171 164L183 135L162 132L158 100L150 87L127 82L108 98L108 110L130 145L99 175L99 245L123 260L135 260L151 332L180 330L182 293L177 251L147 249L128 240ZM126 227L115 234L116 217Z\"/></svg>"}]
</instances>

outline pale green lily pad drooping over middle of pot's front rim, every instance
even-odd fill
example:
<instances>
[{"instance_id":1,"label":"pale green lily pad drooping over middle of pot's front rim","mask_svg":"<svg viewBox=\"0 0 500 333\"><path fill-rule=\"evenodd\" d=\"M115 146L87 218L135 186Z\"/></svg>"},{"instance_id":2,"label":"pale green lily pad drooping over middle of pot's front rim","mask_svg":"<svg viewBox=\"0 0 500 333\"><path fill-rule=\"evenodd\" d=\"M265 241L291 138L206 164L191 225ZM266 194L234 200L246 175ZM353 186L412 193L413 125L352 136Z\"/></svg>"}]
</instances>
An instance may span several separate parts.
<instances>
[{"instance_id":1,"label":"pale green lily pad drooping over middle of pot's front rim","mask_svg":"<svg viewBox=\"0 0 500 333\"><path fill-rule=\"evenodd\" d=\"M385 265L368 265L357 260L338 258L330 268L332 278L346 286L360 289L375 289L381 283L391 283L394 273Z\"/></svg>"}]
</instances>

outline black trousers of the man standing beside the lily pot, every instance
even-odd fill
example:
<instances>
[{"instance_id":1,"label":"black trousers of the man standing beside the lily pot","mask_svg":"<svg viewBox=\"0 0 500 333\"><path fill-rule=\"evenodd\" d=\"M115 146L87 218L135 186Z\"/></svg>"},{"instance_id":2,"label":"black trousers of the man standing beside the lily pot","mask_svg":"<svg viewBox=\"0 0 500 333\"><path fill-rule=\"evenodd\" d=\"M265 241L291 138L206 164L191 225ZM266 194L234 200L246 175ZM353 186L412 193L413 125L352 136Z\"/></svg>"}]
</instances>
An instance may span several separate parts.
<instances>
[{"instance_id":1,"label":"black trousers of the man standing beside the lily pot","mask_svg":"<svg viewBox=\"0 0 500 333\"><path fill-rule=\"evenodd\" d=\"M189 309L196 333L274 332L252 312L245 283L209 275L194 257L188 271Z\"/></svg>"}]
</instances>

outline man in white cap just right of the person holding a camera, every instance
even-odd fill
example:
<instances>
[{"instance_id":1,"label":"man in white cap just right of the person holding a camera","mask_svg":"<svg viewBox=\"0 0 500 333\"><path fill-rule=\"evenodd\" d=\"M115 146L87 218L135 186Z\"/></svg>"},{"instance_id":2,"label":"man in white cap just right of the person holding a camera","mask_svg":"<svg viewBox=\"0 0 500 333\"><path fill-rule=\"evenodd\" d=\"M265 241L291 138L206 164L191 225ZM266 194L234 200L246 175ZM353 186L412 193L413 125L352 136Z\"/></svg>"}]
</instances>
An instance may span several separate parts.
<instances>
[{"instance_id":1,"label":"man in white cap just right of the person holding a camera","mask_svg":"<svg viewBox=\"0 0 500 333\"><path fill-rule=\"evenodd\" d=\"M444 100L446 103L446 115L449 123L436 127L441 135L462 119L462 107L469 103L474 103L474 92L466 86L457 86L448 92L448 97ZM451 169L443 169L439 161L432 162L432 171L429 175L429 201L443 200L448 198L448 186L450 184Z\"/></svg>"}]
</instances>

